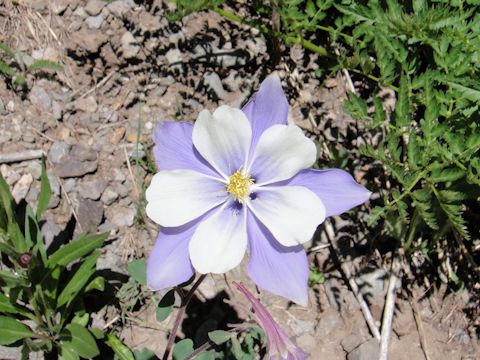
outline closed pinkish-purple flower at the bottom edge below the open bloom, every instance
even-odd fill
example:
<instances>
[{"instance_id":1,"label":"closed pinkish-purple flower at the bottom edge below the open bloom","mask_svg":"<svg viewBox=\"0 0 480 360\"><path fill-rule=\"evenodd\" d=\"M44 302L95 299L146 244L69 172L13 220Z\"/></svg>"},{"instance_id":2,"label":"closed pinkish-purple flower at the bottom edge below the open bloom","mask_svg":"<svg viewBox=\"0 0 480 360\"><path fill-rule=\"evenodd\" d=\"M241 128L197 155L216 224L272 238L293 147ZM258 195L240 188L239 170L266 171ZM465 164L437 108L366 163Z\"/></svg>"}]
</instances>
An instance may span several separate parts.
<instances>
[{"instance_id":1,"label":"closed pinkish-purple flower at the bottom edge below the open bloom","mask_svg":"<svg viewBox=\"0 0 480 360\"><path fill-rule=\"evenodd\" d=\"M272 315L265 306L262 305L253 294L243 284L233 282L234 285L245 295L253 308L255 320L265 331L268 341L269 360L305 360L307 354L296 346L292 340L283 332L278 324L273 320Z\"/></svg>"}]
</instances>

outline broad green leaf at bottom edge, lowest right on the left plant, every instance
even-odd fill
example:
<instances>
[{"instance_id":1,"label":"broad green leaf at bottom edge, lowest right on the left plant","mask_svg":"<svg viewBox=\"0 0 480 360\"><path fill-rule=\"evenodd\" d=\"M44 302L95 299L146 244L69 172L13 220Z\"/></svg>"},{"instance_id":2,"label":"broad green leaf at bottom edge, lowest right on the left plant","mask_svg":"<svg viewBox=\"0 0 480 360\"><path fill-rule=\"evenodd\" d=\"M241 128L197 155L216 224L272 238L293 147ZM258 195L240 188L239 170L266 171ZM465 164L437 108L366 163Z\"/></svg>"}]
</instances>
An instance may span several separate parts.
<instances>
[{"instance_id":1,"label":"broad green leaf at bottom edge, lowest right on the left plant","mask_svg":"<svg viewBox=\"0 0 480 360\"><path fill-rule=\"evenodd\" d=\"M60 334L60 339L62 346L66 345L82 358L89 359L100 354L94 337L81 325L68 324Z\"/></svg>"}]
</instances>

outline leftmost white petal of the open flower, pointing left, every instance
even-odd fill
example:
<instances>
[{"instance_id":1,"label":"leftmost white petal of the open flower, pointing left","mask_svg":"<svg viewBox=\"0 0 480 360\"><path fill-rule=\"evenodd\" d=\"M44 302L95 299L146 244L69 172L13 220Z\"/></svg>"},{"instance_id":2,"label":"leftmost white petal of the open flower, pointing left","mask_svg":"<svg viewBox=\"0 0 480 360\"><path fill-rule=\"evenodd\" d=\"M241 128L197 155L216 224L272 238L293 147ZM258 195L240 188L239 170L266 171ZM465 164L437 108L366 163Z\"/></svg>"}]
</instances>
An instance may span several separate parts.
<instances>
[{"instance_id":1,"label":"leftmost white petal of the open flower, pointing left","mask_svg":"<svg viewBox=\"0 0 480 360\"><path fill-rule=\"evenodd\" d=\"M220 180L193 170L160 171L145 192L146 212L157 224L186 224L223 203L228 193Z\"/></svg>"}]
</instances>

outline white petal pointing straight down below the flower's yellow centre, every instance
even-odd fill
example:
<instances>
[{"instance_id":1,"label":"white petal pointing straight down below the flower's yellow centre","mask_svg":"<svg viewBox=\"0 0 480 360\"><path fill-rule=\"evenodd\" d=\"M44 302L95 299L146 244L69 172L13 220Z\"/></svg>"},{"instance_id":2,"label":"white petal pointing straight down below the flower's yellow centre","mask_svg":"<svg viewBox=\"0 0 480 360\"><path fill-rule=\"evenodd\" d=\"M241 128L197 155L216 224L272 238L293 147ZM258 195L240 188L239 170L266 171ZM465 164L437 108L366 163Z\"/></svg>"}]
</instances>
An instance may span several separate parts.
<instances>
[{"instance_id":1,"label":"white petal pointing straight down below the flower's yellow centre","mask_svg":"<svg viewBox=\"0 0 480 360\"><path fill-rule=\"evenodd\" d=\"M245 207L224 205L198 226L188 246L198 272L220 274L240 264L247 250L245 214Z\"/></svg>"}]
</instances>

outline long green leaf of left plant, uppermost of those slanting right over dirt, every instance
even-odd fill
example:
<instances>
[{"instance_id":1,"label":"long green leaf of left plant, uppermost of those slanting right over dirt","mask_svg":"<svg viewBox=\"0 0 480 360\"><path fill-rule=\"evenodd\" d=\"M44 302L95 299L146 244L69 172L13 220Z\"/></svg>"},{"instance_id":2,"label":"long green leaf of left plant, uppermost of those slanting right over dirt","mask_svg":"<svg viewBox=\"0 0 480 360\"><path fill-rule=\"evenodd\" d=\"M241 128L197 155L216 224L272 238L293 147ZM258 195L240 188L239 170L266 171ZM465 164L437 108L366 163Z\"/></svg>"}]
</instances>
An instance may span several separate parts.
<instances>
[{"instance_id":1,"label":"long green leaf of left plant, uppermost of those slanting right over dirt","mask_svg":"<svg viewBox=\"0 0 480 360\"><path fill-rule=\"evenodd\" d=\"M48 259L47 267L66 266L102 246L108 233L81 235L78 239L62 246Z\"/></svg>"}]
</instances>

